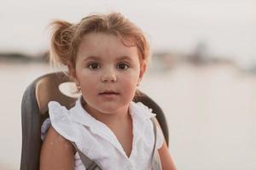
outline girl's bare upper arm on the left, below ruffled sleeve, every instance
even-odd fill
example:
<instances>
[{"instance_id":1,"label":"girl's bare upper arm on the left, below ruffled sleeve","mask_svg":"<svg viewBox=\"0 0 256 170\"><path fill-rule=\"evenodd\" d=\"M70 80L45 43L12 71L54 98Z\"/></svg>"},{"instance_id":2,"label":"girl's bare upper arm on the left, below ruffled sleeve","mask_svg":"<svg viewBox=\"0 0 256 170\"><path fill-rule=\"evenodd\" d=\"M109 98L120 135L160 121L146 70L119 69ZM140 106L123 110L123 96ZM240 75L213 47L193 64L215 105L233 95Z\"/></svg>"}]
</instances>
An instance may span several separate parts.
<instances>
[{"instance_id":1,"label":"girl's bare upper arm on the left, below ruffled sleeve","mask_svg":"<svg viewBox=\"0 0 256 170\"><path fill-rule=\"evenodd\" d=\"M74 169L73 145L49 127L41 147L40 170Z\"/></svg>"}]
</instances>

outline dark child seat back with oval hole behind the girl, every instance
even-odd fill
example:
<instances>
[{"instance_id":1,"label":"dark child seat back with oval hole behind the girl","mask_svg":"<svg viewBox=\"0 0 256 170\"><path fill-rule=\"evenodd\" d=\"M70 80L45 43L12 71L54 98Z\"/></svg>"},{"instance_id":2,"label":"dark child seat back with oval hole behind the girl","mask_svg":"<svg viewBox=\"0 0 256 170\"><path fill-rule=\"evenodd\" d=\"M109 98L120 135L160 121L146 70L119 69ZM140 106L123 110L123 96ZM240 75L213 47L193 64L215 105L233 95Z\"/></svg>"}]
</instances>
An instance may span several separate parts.
<instances>
[{"instance_id":1,"label":"dark child seat back with oval hole behind the girl","mask_svg":"<svg viewBox=\"0 0 256 170\"><path fill-rule=\"evenodd\" d=\"M41 150L41 125L49 117L48 103L51 100L58 101L68 109L73 107L76 98L68 97L60 91L63 82L72 82L63 72L55 72L38 77L32 82L23 94L21 103L22 122L22 150L20 169L36 170L39 168ZM141 101L156 114L160 126L168 144L168 127L166 118L160 106L147 95L137 97L134 101Z\"/></svg>"}]
</instances>

